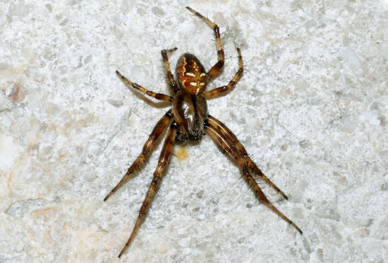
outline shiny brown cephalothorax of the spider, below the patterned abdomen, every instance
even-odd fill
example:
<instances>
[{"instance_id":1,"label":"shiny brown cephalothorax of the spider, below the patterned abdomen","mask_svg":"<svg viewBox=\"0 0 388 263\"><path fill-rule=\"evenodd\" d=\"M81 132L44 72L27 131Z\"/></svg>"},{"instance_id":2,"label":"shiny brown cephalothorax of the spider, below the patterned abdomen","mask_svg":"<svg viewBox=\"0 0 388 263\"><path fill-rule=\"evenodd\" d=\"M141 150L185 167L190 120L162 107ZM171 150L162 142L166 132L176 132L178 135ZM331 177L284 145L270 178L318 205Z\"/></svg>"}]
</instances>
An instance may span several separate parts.
<instances>
[{"instance_id":1,"label":"shiny brown cephalothorax of the spider, below the patterned abdomen","mask_svg":"<svg viewBox=\"0 0 388 263\"><path fill-rule=\"evenodd\" d=\"M184 90L177 92L173 99L173 114L182 125L177 139L198 141L204 133L204 121L208 118L208 104L202 94L193 96Z\"/></svg>"}]
</instances>

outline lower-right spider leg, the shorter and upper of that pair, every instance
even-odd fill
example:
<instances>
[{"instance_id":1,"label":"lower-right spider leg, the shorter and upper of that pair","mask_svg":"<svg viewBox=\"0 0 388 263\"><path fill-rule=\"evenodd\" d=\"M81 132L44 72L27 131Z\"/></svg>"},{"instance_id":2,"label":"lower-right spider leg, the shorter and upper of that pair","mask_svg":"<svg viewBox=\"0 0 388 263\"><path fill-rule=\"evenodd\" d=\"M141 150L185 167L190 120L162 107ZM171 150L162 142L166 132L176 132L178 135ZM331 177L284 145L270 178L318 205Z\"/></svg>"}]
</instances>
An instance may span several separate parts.
<instances>
[{"instance_id":1,"label":"lower-right spider leg, the shorter and upper of that pair","mask_svg":"<svg viewBox=\"0 0 388 263\"><path fill-rule=\"evenodd\" d=\"M237 139L236 135L232 131L229 130L229 128L226 127L224 123L222 123L220 120L214 118L211 115L208 115L209 119L207 120L213 127L216 127L217 131L221 132L228 138L228 140L232 143L232 147L236 148L240 156L245 159L246 163L248 164L248 167L253 171L255 175L260 176L264 181L266 181L269 185L271 185L275 190L282 195L284 198L288 199L288 197L271 181L269 180L263 172L259 169L258 166L252 161L252 159L249 157L248 153L246 152L245 148L242 146L241 142Z\"/></svg>"}]
</instances>

